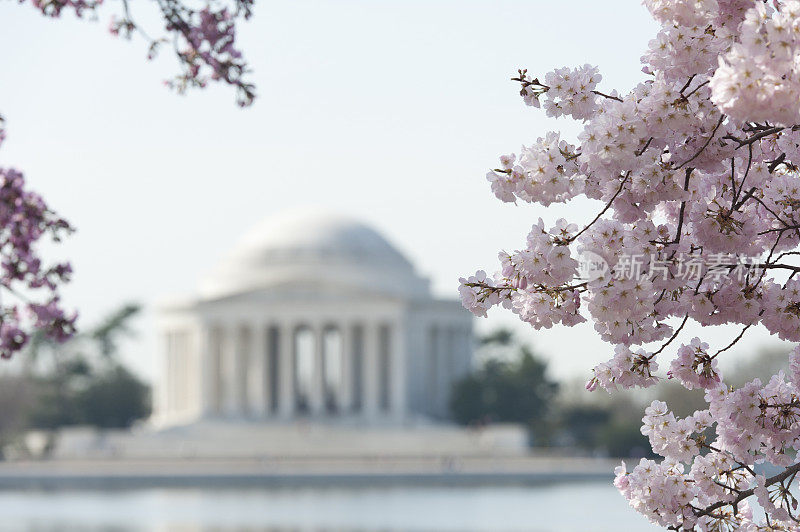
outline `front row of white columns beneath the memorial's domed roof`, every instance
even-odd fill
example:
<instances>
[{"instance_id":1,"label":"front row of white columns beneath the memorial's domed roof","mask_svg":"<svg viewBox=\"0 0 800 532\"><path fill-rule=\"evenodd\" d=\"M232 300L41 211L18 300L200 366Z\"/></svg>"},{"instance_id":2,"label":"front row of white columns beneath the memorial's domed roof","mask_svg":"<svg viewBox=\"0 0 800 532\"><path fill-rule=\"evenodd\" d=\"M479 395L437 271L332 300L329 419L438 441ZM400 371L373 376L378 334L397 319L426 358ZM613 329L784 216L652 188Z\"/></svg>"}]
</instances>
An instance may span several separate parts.
<instances>
[{"instance_id":1,"label":"front row of white columns beneath the memorial's domed roof","mask_svg":"<svg viewBox=\"0 0 800 532\"><path fill-rule=\"evenodd\" d=\"M401 322L226 322L166 333L165 412L242 419L403 416Z\"/></svg>"}]
</instances>

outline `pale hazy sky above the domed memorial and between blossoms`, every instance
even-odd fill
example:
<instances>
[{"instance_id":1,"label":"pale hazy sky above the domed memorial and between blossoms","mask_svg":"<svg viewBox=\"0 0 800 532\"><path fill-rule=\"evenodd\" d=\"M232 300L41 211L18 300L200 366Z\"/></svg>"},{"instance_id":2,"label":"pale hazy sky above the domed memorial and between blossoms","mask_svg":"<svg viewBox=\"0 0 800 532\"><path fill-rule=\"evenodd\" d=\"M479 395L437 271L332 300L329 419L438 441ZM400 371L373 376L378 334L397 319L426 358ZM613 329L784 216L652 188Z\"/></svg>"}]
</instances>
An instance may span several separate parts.
<instances>
[{"instance_id":1,"label":"pale hazy sky above the domed memorial and between blossoms","mask_svg":"<svg viewBox=\"0 0 800 532\"><path fill-rule=\"evenodd\" d=\"M92 22L0 3L0 164L78 227L59 254L76 269L65 296L84 325L126 301L193 292L250 226L309 205L373 224L438 295L457 297L460 275L494 270L539 216L600 208L495 200L484 175L498 155L548 129L577 132L526 108L509 78L592 63L603 90L628 89L656 29L636 1L259 1L240 34L259 99L241 110L225 87L165 89L172 58L147 62L144 43L110 36L110 4ZM517 322L497 311L478 326L504 323ZM125 346L147 376L153 326L148 311ZM590 326L518 328L561 376L612 352Z\"/></svg>"}]
</instances>

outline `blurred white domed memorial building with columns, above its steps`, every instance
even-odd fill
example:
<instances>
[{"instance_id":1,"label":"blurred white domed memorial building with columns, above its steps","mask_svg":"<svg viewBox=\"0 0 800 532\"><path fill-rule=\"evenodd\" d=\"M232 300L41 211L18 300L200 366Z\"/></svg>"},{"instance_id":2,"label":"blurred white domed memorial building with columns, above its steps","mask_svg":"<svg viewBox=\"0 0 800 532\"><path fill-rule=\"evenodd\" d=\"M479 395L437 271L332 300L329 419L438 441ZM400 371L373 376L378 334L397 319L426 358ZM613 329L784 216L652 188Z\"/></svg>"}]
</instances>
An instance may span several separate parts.
<instances>
[{"instance_id":1,"label":"blurred white domed memorial building with columns, above its steps","mask_svg":"<svg viewBox=\"0 0 800 532\"><path fill-rule=\"evenodd\" d=\"M153 421L447 417L472 319L368 226L295 213L246 234L199 294L161 305Z\"/></svg>"}]
</instances>

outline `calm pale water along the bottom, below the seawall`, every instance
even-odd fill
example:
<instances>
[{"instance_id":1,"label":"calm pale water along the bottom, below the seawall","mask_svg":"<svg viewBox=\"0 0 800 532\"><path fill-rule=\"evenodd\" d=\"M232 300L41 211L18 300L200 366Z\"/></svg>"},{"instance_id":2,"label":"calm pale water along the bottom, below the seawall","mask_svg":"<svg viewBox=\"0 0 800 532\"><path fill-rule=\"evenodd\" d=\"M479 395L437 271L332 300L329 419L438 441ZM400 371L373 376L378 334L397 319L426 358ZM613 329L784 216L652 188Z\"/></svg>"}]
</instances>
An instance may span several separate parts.
<instances>
[{"instance_id":1,"label":"calm pale water along the bottom, below the seawall","mask_svg":"<svg viewBox=\"0 0 800 532\"><path fill-rule=\"evenodd\" d=\"M658 530L608 482L537 486L0 491L0 530Z\"/></svg>"}]
</instances>

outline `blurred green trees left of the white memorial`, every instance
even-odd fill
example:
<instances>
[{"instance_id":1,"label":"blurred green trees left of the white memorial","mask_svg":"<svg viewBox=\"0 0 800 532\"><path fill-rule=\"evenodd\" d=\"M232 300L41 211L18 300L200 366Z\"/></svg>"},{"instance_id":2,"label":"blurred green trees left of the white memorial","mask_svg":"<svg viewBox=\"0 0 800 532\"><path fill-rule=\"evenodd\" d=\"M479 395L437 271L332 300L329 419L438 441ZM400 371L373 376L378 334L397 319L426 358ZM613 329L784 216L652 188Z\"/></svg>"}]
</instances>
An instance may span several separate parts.
<instances>
[{"instance_id":1,"label":"blurred green trees left of the white memorial","mask_svg":"<svg viewBox=\"0 0 800 532\"><path fill-rule=\"evenodd\" d=\"M34 336L21 373L0 378L0 449L30 429L47 431L52 450L61 427L127 428L149 416L149 387L118 360L139 310L124 305L63 344Z\"/></svg>"}]
</instances>

